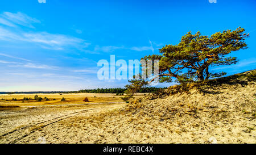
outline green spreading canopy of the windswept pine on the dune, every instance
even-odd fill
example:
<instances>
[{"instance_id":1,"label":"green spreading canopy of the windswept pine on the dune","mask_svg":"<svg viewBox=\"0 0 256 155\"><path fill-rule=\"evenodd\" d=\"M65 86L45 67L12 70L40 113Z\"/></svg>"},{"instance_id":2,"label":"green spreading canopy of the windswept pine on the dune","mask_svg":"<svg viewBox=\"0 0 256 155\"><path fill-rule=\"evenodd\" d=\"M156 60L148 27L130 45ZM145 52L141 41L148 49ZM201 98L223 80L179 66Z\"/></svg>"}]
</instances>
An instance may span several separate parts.
<instances>
[{"instance_id":1,"label":"green spreading canopy of the windswept pine on the dune","mask_svg":"<svg viewBox=\"0 0 256 155\"><path fill-rule=\"evenodd\" d=\"M246 49L245 38L249 34L239 27L235 31L216 32L211 36L193 35L188 32L181 37L177 45L166 45L159 49L160 55L149 55L142 60L159 60L159 74L154 75L152 82L204 81L205 79L224 76L225 72L211 73L209 68L218 65L232 65L238 62L237 57L228 56L233 51Z\"/></svg>"}]
</instances>

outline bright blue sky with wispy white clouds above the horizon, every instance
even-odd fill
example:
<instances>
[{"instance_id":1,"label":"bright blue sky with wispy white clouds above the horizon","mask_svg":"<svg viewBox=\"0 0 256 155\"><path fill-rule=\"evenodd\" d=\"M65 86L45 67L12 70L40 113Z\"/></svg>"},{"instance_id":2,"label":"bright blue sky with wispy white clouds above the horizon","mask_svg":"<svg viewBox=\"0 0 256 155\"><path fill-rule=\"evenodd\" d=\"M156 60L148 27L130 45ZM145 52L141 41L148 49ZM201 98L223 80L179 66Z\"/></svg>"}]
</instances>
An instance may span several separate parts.
<instances>
[{"instance_id":1,"label":"bright blue sky with wispy white clouds above the horizon","mask_svg":"<svg viewBox=\"0 0 256 155\"><path fill-rule=\"evenodd\" d=\"M179 43L188 31L211 35L245 28L249 48L232 53L240 63L213 71L230 75L256 67L252 0L0 3L0 91L123 87L125 80L97 79L98 60L115 55L116 60L128 61L157 54L163 45Z\"/></svg>"}]
</instances>

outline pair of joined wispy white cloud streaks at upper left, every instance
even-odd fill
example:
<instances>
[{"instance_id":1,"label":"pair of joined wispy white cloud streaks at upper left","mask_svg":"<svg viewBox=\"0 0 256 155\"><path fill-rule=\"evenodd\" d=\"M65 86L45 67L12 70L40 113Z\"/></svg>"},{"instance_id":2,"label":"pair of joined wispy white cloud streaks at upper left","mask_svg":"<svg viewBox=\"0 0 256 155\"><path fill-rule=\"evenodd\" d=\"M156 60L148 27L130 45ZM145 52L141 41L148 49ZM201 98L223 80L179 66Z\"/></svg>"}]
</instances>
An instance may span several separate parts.
<instances>
[{"instance_id":1,"label":"pair of joined wispy white cloud streaks at upper left","mask_svg":"<svg viewBox=\"0 0 256 155\"><path fill-rule=\"evenodd\" d=\"M22 12L3 12L0 14L0 40L26 41L28 43L35 43L41 48L52 50L76 48L84 51L84 48L90 45L84 39L77 37L48 32L24 32L16 28L18 26L34 28L32 26L33 23L40 23L40 20L31 18ZM79 33L80 31L77 32Z\"/></svg>"}]
</instances>

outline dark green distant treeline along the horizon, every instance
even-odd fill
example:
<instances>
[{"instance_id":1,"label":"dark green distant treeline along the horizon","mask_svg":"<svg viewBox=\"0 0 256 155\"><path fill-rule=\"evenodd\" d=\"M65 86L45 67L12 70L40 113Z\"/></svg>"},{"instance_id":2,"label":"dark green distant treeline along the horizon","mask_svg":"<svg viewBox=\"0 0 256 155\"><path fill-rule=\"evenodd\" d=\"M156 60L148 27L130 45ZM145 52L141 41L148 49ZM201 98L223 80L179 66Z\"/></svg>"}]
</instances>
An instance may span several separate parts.
<instances>
[{"instance_id":1,"label":"dark green distant treeline along the horizon","mask_svg":"<svg viewBox=\"0 0 256 155\"><path fill-rule=\"evenodd\" d=\"M139 90L139 93L154 93L159 89L167 89L167 87L144 87ZM67 93L125 93L124 88L109 88L109 89L82 89L79 91L19 91L19 92L0 92L0 94L67 94Z\"/></svg>"}]
</instances>

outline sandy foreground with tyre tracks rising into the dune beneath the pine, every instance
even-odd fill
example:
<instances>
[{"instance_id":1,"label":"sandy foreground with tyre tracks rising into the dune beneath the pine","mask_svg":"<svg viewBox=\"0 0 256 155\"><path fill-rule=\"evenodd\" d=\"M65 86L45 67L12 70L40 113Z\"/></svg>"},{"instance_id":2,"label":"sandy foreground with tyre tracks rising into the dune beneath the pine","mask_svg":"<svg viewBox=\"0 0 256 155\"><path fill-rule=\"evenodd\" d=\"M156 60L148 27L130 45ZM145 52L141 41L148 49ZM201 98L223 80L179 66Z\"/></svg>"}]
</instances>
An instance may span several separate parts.
<instances>
[{"instance_id":1,"label":"sandy foreground with tyre tracks rising into the dune beneath the pine","mask_svg":"<svg viewBox=\"0 0 256 155\"><path fill-rule=\"evenodd\" d=\"M0 143L255 144L252 79L129 104L2 109Z\"/></svg>"}]
</instances>

